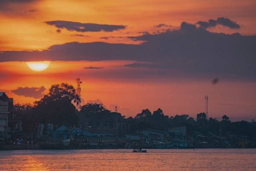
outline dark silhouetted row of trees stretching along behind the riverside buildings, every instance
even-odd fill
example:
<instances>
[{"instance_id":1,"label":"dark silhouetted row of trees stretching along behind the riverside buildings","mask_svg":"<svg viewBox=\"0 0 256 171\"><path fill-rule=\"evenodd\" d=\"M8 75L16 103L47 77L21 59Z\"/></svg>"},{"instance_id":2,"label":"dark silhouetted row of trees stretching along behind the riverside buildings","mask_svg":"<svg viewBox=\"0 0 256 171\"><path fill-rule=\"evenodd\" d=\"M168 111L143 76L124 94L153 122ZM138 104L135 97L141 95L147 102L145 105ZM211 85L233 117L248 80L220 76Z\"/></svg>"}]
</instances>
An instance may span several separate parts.
<instances>
[{"instance_id":1,"label":"dark silhouetted row of trees stretching along behind the riverside buildings","mask_svg":"<svg viewBox=\"0 0 256 171\"><path fill-rule=\"evenodd\" d=\"M34 105L16 104L15 114L21 118L23 130L33 132L39 123L53 123L54 125L66 125L68 127L88 127L114 128L115 121L119 124L130 125L130 133L136 133L140 129L168 130L170 127L186 125L188 134L193 131L206 133L227 133L232 132L238 135L246 135L249 139L256 137L256 122L252 120L231 122L229 117L224 115L221 121L215 118L206 118L205 113L198 113L196 119L189 115L175 115L169 117L164 115L162 109L157 109L151 113L148 109L143 109L134 118L121 115L106 109L102 104L87 103L78 111L74 104L80 101L76 90L72 85L64 84L52 85L49 93L44 95Z\"/></svg>"}]
</instances>

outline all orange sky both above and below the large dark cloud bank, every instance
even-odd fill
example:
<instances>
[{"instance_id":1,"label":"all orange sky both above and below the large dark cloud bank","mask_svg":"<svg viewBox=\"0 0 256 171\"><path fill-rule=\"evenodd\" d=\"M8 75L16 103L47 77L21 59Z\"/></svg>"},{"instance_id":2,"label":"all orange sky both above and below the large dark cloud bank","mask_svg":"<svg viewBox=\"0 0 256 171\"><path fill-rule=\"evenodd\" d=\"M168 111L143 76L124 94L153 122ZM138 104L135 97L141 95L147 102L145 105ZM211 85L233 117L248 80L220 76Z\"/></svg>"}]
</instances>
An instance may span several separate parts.
<instances>
[{"instance_id":1,"label":"all orange sky both above and below the large dark cloud bank","mask_svg":"<svg viewBox=\"0 0 256 171\"><path fill-rule=\"evenodd\" d=\"M158 24L169 29L180 28L181 22L195 24L218 17L226 17L240 24L239 30L218 26L210 32L256 34L256 3L254 0L34 0L28 3L0 4L0 51L45 50L52 45L68 42L109 42L140 44L127 36L141 32L162 32ZM125 29L113 32L76 32L58 28L44 22L65 20L81 23L123 25ZM82 34L84 36L72 36ZM107 40L100 37L113 36ZM118 37L118 38L117 38ZM11 90L18 87L41 87L62 82L76 85L82 80L82 99L100 99L108 108L120 106L126 116L134 116L142 109L158 107L165 114L186 113L193 117L204 112L204 95L209 96L210 116L231 119L256 119L256 83L214 78L168 78L160 69L129 68L132 60L104 61L51 61L43 72L30 70L26 62L0 62L0 90L14 97L15 102L32 103L35 98L17 95ZM104 69L85 70L84 67ZM150 70L150 74L146 74ZM158 74L154 74L154 71ZM164 72L164 71L163 71ZM118 75L118 73L121 73ZM133 75L131 75L132 73ZM45 91L45 93L47 90Z\"/></svg>"}]
</instances>

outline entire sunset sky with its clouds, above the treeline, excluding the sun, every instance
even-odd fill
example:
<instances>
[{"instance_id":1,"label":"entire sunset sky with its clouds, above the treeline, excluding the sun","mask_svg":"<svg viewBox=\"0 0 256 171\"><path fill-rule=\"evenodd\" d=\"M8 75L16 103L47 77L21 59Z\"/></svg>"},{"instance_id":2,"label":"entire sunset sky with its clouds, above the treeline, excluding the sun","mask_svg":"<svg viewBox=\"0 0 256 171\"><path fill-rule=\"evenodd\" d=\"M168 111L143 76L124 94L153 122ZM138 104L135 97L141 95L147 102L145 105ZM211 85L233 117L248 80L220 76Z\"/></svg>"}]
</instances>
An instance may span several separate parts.
<instances>
[{"instance_id":1,"label":"entire sunset sky with its clouds, above the treeline, excluding the sun","mask_svg":"<svg viewBox=\"0 0 256 171\"><path fill-rule=\"evenodd\" d=\"M0 91L33 103L52 84L126 117L256 119L254 0L0 0ZM50 61L36 72L27 62ZM48 62L49 63L49 62Z\"/></svg>"}]
</instances>

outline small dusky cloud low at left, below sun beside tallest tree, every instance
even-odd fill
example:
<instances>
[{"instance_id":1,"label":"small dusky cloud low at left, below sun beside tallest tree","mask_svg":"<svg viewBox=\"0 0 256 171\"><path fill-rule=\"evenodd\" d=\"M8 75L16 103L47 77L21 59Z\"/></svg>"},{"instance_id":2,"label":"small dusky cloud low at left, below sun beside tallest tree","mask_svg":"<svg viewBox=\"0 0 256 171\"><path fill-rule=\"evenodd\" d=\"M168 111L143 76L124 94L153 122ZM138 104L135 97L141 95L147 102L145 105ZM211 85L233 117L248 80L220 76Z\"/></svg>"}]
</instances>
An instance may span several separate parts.
<instances>
[{"instance_id":1,"label":"small dusky cloud low at left, below sun beside tallest tree","mask_svg":"<svg viewBox=\"0 0 256 171\"><path fill-rule=\"evenodd\" d=\"M43 97L45 90L46 88L42 86L42 87L18 87L17 89L14 89L11 91L17 95L23 95L25 97L33 97L35 99L39 99Z\"/></svg>"}]
</instances>

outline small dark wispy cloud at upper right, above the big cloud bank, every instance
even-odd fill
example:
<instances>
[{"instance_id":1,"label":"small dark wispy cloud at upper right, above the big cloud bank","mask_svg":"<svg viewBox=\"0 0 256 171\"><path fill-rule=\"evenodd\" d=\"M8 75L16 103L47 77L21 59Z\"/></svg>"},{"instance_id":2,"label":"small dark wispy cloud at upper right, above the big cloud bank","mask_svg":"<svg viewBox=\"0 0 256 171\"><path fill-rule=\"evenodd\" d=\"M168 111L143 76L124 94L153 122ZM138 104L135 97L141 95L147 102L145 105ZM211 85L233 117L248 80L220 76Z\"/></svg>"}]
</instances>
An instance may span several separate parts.
<instances>
[{"instance_id":1,"label":"small dark wispy cloud at upper right, above the big cloud bank","mask_svg":"<svg viewBox=\"0 0 256 171\"><path fill-rule=\"evenodd\" d=\"M207 28L211 28L211 27L215 27L216 25L222 25L222 26L226 26L229 28L233 28L233 29L238 29L240 28L239 24L236 24L236 22L228 19L228 18L224 18L224 17L220 17L217 20L208 20L208 22L204 22L204 21L199 21L196 24L199 24L199 28L202 29L207 29Z\"/></svg>"}]
</instances>

